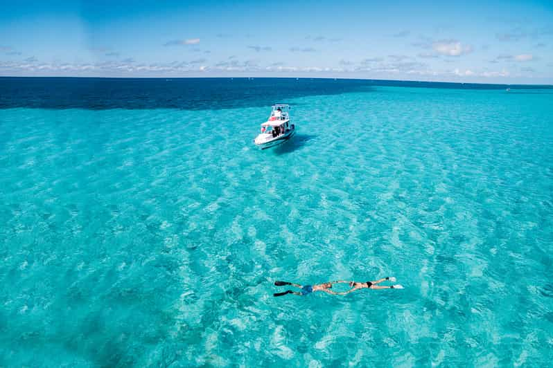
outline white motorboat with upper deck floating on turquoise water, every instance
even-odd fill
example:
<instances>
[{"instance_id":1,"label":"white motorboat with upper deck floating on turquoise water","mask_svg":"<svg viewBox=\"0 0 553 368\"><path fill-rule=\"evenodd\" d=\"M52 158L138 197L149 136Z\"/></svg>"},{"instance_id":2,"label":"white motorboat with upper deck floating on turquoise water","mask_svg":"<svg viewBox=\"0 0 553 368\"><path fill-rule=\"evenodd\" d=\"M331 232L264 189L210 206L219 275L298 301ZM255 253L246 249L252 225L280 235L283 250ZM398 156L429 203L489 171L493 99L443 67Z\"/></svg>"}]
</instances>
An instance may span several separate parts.
<instances>
[{"instance_id":1,"label":"white motorboat with upper deck floating on turquoise water","mask_svg":"<svg viewBox=\"0 0 553 368\"><path fill-rule=\"evenodd\" d=\"M254 143L261 149L267 149L281 145L294 134L296 134L296 127L290 124L290 106L275 104L269 120L261 125L261 134L255 138Z\"/></svg>"}]
</instances>

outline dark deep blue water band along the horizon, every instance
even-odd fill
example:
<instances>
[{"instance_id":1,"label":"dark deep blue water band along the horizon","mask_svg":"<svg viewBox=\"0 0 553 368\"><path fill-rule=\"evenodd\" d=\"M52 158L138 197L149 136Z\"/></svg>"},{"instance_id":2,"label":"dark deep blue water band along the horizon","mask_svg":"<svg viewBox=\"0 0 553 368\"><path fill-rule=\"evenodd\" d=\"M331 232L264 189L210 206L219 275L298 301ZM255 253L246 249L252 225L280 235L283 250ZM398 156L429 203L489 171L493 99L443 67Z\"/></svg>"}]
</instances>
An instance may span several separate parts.
<instances>
[{"instance_id":1,"label":"dark deep blue water band along the horizon","mask_svg":"<svg viewBox=\"0 0 553 368\"><path fill-rule=\"evenodd\" d=\"M0 86L0 109L236 109L310 95L370 92L378 86L484 90L509 87L511 93L553 93L553 86L309 78L0 77Z\"/></svg>"}]
</instances>

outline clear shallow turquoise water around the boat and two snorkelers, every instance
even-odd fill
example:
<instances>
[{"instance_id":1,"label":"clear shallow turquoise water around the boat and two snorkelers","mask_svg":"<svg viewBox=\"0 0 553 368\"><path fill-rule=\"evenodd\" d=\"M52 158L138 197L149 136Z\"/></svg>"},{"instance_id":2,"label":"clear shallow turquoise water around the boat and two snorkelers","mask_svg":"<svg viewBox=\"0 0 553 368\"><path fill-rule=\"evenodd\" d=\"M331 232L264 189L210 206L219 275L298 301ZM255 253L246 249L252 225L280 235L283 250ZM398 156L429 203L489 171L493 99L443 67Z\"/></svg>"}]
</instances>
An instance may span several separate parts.
<instances>
[{"instance_id":1,"label":"clear shallow turquoise water around the boat and two snorkelers","mask_svg":"<svg viewBox=\"0 0 553 368\"><path fill-rule=\"evenodd\" d=\"M0 366L549 365L552 93L0 109Z\"/></svg>"}]
</instances>

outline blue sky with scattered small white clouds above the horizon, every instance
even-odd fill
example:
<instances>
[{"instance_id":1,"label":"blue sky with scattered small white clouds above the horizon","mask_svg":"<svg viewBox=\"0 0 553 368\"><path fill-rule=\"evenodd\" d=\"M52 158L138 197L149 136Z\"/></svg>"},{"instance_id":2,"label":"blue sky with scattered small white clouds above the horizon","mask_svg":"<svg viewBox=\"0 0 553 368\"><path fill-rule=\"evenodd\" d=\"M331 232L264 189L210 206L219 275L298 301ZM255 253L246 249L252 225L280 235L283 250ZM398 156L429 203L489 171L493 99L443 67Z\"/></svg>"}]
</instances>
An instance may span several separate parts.
<instances>
[{"instance_id":1,"label":"blue sky with scattered small white clouds above the horizon","mask_svg":"<svg viewBox=\"0 0 553 368\"><path fill-rule=\"evenodd\" d=\"M0 75L553 84L553 0L4 1Z\"/></svg>"}]
</instances>

